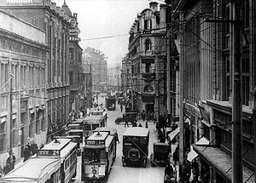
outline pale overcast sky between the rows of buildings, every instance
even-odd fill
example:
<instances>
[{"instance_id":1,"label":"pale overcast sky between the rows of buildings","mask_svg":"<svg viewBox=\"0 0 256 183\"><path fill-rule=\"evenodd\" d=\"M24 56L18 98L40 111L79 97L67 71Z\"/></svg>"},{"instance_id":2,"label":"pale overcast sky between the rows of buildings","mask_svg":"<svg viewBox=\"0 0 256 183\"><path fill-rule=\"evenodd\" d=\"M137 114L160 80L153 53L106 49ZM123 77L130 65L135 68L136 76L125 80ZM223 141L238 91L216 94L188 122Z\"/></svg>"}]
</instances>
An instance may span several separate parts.
<instances>
[{"instance_id":1,"label":"pale overcast sky between the rows of buildings","mask_svg":"<svg viewBox=\"0 0 256 183\"><path fill-rule=\"evenodd\" d=\"M62 6L64 0L52 0L52 2ZM100 49L108 57L108 65L115 65L120 63L120 58L128 52L129 31L137 13L147 9L150 1L66 0L66 3L72 13L78 13L81 31L79 37L82 39L79 45L82 49L86 47ZM113 37L100 38L108 36ZM86 40L98 37L99 39Z\"/></svg>"}]
</instances>

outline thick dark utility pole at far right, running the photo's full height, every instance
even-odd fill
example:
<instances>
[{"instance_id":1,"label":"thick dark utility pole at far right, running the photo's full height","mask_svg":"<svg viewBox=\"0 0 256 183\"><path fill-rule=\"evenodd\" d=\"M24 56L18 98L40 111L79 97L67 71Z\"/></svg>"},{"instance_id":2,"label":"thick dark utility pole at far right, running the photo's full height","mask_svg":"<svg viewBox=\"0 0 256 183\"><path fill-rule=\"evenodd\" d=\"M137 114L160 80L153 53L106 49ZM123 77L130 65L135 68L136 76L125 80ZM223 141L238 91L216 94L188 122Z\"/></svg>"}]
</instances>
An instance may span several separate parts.
<instances>
[{"instance_id":1,"label":"thick dark utility pole at far right, running the photo's full height","mask_svg":"<svg viewBox=\"0 0 256 183\"><path fill-rule=\"evenodd\" d=\"M233 0L232 8L232 183L242 182L241 169L241 53L240 53L240 1Z\"/></svg>"}]
</instances>

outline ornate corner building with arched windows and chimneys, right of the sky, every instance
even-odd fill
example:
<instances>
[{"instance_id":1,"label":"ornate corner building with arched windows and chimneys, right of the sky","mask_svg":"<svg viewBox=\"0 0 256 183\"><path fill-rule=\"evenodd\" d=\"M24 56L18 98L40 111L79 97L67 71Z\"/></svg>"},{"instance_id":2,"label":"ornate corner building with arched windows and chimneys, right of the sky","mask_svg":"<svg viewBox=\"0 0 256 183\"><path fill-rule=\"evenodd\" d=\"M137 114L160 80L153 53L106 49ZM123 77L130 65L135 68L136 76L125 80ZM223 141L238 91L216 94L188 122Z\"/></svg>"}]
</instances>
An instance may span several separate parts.
<instances>
[{"instance_id":1,"label":"ornate corner building with arched windows and chimneys, right of the sky","mask_svg":"<svg viewBox=\"0 0 256 183\"><path fill-rule=\"evenodd\" d=\"M130 30L129 62L133 110L166 112L166 5L149 3Z\"/></svg>"}]
</instances>

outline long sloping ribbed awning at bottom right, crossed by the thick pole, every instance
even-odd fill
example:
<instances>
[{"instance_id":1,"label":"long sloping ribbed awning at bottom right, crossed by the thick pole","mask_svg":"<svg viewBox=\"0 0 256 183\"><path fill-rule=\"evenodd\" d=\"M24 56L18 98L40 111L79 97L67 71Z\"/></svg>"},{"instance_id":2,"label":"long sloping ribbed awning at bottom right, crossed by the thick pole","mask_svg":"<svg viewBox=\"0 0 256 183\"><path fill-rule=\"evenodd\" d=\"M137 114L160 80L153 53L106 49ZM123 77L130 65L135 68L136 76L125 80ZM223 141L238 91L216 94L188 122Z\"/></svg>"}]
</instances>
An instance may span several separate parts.
<instances>
[{"instance_id":1,"label":"long sloping ribbed awning at bottom right, crossed by the thick pole","mask_svg":"<svg viewBox=\"0 0 256 183\"><path fill-rule=\"evenodd\" d=\"M216 146L193 145L193 149L218 171L225 180L232 179L232 157ZM253 183L255 174L252 169L242 165L243 183Z\"/></svg>"}]
</instances>

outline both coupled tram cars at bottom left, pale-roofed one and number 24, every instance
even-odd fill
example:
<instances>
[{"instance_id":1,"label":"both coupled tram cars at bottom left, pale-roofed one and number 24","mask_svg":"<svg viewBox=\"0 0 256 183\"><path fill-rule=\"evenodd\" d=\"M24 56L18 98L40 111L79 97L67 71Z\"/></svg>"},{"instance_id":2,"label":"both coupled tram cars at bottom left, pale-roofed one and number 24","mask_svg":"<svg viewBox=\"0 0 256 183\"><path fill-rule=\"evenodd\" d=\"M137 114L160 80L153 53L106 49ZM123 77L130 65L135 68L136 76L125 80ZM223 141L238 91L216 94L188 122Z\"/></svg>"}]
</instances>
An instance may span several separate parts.
<instances>
[{"instance_id":1,"label":"both coupled tram cars at bottom left, pale-roofed one and number 24","mask_svg":"<svg viewBox=\"0 0 256 183\"><path fill-rule=\"evenodd\" d=\"M1 177L0 182L70 182L76 176L76 146L70 139L55 139L38 150L37 157L29 158Z\"/></svg>"}]
</instances>

